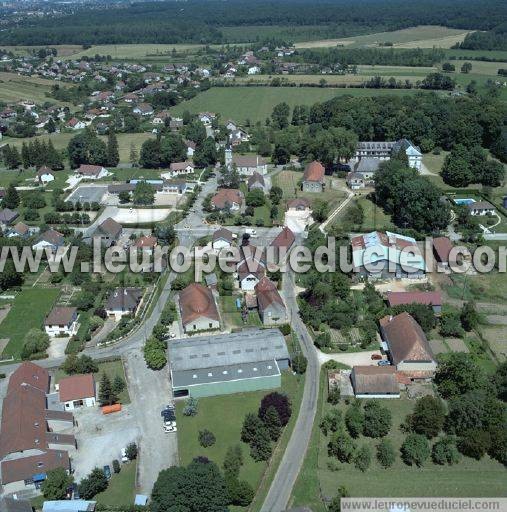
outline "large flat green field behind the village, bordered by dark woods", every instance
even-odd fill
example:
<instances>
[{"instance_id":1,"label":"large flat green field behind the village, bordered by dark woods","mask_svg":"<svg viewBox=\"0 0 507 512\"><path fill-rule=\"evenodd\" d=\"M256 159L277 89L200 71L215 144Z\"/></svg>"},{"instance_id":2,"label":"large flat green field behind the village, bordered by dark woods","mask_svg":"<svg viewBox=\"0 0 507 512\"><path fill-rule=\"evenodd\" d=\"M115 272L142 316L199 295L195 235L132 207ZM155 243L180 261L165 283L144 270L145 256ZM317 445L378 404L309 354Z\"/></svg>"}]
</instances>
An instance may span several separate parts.
<instances>
[{"instance_id":1,"label":"large flat green field behind the village, bordered by dark woods","mask_svg":"<svg viewBox=\"0 0 507 512\"><path fill-rule=\"evenodd\" d=\"M350 94L353 96L380 96L413 94L409 90L397 89L332 89L319 87L212 87L189 101L171 109L176 115L185 110L192 114L216 112L222 119L236 122L264 122L271 115L273 107L285 101L289 106L313 105Z\"/></svg>"}]
</instances>

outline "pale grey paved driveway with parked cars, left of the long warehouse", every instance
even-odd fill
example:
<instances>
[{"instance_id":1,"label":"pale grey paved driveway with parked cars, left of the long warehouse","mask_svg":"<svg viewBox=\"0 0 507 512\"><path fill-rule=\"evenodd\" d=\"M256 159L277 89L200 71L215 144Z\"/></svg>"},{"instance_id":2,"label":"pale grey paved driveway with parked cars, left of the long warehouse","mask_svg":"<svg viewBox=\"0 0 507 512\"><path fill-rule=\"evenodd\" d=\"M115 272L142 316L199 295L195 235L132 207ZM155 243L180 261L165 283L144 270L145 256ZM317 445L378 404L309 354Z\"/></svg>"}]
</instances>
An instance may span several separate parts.
<instances>
[{"instance_id":1,"label":"pale grey paved driveway with parked cars, left of the long warehouse","mask_svg":"<svg viewBox=\"0 0 507 512\"><path fill-rule=\"evenodd\" d=\"M146 368L139 349L125 354L125 371L132 400L131 413L141 432L139 492L150 495L162 469L178 465L176 434L162 429L160 412L172 398L168 365L158 372Z\"/></svg>"}]
</instances>

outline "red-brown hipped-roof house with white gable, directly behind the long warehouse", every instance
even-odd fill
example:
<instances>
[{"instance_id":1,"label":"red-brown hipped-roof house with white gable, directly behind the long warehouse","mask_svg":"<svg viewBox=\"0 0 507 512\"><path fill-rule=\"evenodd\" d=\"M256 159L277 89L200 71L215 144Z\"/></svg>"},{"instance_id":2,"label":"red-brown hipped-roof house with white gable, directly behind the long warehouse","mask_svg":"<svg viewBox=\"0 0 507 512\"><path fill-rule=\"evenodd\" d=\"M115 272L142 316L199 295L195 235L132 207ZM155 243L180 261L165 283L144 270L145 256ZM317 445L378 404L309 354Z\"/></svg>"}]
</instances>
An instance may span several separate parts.
<instances>
[{"instance_id":1,"label":"red-brown hipped-roof house with white gable, directly behind the long warehouse","mask_svg":"<svg viewBox=\"0 0 507 512\"><path fill-rule=\"evenodd\" d=\"M199 283L189 284L179 293L178 301L185 332L220 328L220 316L211 289Z\"/></svg>"}]
</instances>

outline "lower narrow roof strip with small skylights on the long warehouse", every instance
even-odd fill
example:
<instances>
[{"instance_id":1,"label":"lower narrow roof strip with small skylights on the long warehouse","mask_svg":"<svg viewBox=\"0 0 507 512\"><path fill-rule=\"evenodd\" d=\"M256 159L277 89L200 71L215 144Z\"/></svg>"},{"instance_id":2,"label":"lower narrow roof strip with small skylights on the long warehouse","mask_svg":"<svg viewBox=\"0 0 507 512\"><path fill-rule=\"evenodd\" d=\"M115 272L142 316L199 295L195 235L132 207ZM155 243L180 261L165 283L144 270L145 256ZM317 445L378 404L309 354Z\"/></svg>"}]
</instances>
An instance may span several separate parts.
<instances>
[{"instance_id":1,"label":"lower narrow roof strip with small skylights on the long warehouse","mask_svg":"<svg viewBox=\"0 0 507 512\"><path fill-rule=\"evenodd\" d=\"M238 379L254 379L280 375L276 361L257 361L253 363L213 366L197 370L173 371L172 379L175 387L187 387L192 384L211 384L213 382L230 382Z\"/></svg>"}]
</instances>

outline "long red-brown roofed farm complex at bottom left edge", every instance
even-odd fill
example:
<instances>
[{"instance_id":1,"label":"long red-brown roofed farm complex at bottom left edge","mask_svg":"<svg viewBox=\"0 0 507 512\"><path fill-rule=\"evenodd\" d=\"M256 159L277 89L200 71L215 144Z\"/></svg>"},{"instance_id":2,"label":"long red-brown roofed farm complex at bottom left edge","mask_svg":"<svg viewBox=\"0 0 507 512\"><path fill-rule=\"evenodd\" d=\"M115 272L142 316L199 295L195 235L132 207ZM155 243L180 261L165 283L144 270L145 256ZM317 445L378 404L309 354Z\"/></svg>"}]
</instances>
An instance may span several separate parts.
<instances>
[{"instance_id":1,"label":"long red-brown roofed farm complex at bottom left edge","mask_svg":"<svg viewBox=\"0 0 507 512\"><path fill-rule=\"evenodd\" d=\"M3 494L34 491L47 472L70 472L67 450L76 448L74 418L63 410L48 409L50 377L46 369L24 362L9 379L2 406L0 468Z\"/></svg>"}]
</instances>

